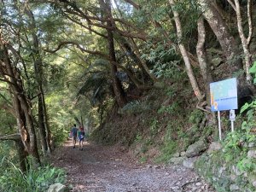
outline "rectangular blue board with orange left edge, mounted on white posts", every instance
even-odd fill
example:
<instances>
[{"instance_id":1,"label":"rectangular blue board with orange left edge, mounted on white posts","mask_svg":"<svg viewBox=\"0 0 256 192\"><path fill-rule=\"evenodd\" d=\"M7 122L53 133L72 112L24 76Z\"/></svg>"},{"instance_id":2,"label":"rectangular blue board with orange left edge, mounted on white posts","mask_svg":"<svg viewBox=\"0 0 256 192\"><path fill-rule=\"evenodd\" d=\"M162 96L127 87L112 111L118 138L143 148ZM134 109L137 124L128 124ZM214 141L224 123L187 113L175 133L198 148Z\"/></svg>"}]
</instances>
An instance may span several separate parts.
<instances>
[{"instance_id":1,"label":"rectangular blue board with orange left edge, mounted on white posts","mask_svg":"<svg viewBox=\"0 0 256 192\"><path fill-rule=\"evenodd\" d=\"M237 109L236 78L210 84L212 111Z\"/></svg>"}]
</instances>

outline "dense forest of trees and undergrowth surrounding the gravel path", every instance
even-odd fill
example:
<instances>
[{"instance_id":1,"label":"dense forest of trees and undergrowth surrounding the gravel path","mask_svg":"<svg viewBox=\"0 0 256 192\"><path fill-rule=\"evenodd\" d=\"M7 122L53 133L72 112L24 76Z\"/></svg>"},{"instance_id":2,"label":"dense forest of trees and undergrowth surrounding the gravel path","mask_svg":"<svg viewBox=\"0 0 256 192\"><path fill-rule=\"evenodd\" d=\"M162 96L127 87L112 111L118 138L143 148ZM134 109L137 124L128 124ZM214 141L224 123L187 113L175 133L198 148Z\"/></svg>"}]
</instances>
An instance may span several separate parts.
<instances>
[{"instance_id":1,"label":"dense forest of trees and undergrowth surrounding the gravel path","mask_svg":"<svg viewBox=\"0 0 256 192\"><path fill-rule=\"evenodd\" d=\"M255 8L255 0L1 1L0 191L65 183L50 157L73 124L141 163L167 163L201 139L218 143L209 84L230 78L235 132L221 112L223 149L196 169L217 191L233 191L231 183L255 191ZM204 161L247 176L216 181Z\"/></svg>"}]
</instances>

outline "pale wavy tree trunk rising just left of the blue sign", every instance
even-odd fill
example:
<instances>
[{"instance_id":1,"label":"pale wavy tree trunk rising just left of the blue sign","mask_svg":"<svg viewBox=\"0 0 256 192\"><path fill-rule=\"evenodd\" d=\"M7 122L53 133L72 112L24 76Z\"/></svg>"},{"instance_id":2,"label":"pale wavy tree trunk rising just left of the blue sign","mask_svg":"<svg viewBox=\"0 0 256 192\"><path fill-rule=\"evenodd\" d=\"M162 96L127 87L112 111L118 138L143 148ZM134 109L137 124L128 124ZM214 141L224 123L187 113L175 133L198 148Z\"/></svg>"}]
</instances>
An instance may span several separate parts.
<instances>
[{"instance_id":1,"label":"pale wavy tree trunk rising just left of the blue sign","mask_svg":"<svg viewBox=\"0 0 256 192\"><path fill-rule=\"evenodd\" d=\"M212 83L212 72L211 68L208 65L207 60L207 52L205 49L205 42L206 42L206 30L204 25L204 19L200 17L197 20L197 31L198 31L198 39L197 39L197 45L196 45L196 54L198 57L198 61L201 68L201 75L204 79L204 85L205 85L205 92L207 94L207 104L210 105L210 83Z\"/></svg>"}]
</instances>

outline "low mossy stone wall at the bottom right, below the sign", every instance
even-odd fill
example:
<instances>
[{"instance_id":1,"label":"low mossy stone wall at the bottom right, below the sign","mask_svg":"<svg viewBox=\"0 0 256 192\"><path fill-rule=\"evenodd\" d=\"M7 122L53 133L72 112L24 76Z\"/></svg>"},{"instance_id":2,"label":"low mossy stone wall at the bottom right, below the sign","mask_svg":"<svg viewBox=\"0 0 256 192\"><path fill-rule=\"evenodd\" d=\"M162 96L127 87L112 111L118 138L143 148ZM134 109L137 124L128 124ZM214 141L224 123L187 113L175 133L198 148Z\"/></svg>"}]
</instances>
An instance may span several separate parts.
<instances>
[{"instance_id":1,"label":"low mossy stone wall at the bottom right, below the sign","mask_svg":"<svg viewBox=\"0 0 256 192\"><path fill-rule=\"evenodd\" d=\"M219 192L256 191L256 172L242 171L236 160L226 162L221 150L201 155L195 162L195 171Z\"/></svg>"}]
</instances>

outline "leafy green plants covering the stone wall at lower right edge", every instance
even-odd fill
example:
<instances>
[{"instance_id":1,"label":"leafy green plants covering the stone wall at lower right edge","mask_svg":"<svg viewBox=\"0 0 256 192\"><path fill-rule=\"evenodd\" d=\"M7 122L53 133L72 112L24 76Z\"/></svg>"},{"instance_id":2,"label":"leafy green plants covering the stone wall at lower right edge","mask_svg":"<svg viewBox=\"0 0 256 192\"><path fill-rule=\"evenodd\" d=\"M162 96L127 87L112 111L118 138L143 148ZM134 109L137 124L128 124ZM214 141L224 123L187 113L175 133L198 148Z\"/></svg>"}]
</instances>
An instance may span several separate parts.
<instances>
[{"instance_id":1,"label":"leafy green plants covering the stone wall at lower right edge","mask_svg":"<svg viewBox=\"0 0 256 192\"><path fill-rule=\"evenodd\" d=\"M236 183L241 191L253 191L253 181L256 160L251 156L255 150L256 135L253 129L256 125L254 102L241 108L241 127L230 132L222 143L222 150L213 154L204 154L196 163L196 170L218 191L230 191L230 184Z\"/></svg>"}]
</instances>

